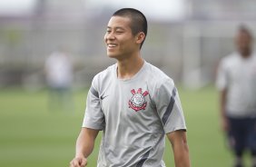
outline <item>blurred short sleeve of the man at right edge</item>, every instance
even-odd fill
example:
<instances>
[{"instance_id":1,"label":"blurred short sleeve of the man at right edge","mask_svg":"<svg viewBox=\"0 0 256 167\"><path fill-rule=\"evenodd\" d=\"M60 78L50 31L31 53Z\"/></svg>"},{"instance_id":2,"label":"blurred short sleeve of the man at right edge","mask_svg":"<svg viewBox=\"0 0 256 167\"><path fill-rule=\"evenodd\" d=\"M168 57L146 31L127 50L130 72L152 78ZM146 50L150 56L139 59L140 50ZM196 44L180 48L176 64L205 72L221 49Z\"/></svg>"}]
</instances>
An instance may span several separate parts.
<instances>
[{"instance_id":1,"label":"blurred short sleeve of the man at right edge","mask_svg":"<svg viewBox=\"0 0 256 167\"><path fill-rule=\"evenodd\" d=\"M217 78L216 78L216 87L222 91L227 87L228 84L228 72L225 62L222 60L218 67Z\"/></svg>"}]
</instances>

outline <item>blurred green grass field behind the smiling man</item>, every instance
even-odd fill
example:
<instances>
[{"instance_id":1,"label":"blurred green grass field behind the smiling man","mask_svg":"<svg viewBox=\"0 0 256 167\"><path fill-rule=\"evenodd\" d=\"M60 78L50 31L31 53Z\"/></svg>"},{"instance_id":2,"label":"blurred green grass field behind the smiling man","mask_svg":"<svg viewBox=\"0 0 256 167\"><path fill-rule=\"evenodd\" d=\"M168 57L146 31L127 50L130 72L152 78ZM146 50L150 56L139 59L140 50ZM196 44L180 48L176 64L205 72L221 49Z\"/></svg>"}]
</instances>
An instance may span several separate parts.
<instances>
[{"instance_id":1,"label":"blurred green grass field behind the smiling man","mask_svg":"<svg viewBox=\"0 0 256 167\"><path fill-rule=\"evenodd\" d=\"M74 144L84 117L87 90L74 92L74 111L48 110L47 92L19 88L0 90L0 166L64 167L74 157ZM213 87L198 91L179 88L188 127L193 167L229 167L231 153L219 126L218 94ZM89 167L95 167L100 136ZM164 160L174 166L166 142Z\"/></svg>"}]
</instances>

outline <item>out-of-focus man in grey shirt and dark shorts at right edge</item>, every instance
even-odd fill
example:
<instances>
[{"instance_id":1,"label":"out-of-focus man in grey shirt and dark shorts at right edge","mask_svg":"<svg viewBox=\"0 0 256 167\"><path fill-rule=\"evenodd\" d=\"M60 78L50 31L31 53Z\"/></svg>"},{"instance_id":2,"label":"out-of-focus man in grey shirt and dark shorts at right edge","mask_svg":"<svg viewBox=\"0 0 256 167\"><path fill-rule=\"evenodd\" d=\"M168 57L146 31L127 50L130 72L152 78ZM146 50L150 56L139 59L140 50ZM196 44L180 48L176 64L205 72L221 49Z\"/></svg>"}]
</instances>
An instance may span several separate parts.
<instances>
[{"instance_id":1,"label":"out-of-focus man in grey shirt and dark shorts at right edge","mask_svg":"<svg viewBox=\"0 0 256 167\"><path fill-rule=\"evenodd\" d=\"M222 130L235 156L234 166L243 167L242 155L251 152L256 167L256 54L251 31L241 25L236 36L237 51L222 58L218 69Z\"/></svg>"}]
</instances>

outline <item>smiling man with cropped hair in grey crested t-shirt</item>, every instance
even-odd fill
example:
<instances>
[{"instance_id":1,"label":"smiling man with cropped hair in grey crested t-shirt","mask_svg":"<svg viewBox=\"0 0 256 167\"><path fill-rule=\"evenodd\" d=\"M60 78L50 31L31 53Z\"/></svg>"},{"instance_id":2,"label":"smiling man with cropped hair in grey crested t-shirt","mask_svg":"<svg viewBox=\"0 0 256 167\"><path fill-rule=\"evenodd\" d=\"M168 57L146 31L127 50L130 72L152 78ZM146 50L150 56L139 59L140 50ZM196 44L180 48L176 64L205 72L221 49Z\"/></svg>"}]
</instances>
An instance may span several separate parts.
<instances>
[{"instance_id":1,"label":"smiling man with cropped hair in grey crested t-shirt","mask_svg":"<svg viewBox=\"0 0 256 167\"><path fill-rule=\"evenodd\" d=\"M72 167L86 166L99 131L97 167L164 167L165 135L175 166L190 167L180 98L172 79L143 60L146 34L146 18L136 9L111 17L104 42L117 63L94 76Z\"/></svg>"}]
</instances>

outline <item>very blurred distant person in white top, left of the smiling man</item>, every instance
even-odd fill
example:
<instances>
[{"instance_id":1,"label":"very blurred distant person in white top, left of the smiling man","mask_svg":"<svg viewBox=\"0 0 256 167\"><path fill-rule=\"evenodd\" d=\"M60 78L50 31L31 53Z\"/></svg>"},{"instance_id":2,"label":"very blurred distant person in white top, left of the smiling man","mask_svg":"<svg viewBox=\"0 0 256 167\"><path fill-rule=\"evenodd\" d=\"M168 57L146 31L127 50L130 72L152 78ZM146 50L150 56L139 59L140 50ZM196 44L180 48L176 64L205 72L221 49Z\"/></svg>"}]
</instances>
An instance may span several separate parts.
<instances>
[{"instance_id":1,"label":"very blurred distant person in white top, left of the smiling man","mask_svg":"<svg viewBox=\"0 0 256 167\"><path fill-rule=\"evenodd\" d=\"M73 64L63 46L49 55L44 71L49 86L50 110L73 110Z\"/></svg>"}]
</instances>

